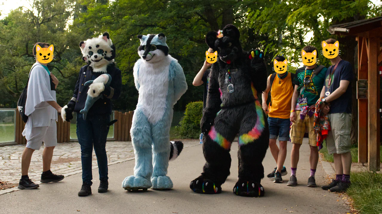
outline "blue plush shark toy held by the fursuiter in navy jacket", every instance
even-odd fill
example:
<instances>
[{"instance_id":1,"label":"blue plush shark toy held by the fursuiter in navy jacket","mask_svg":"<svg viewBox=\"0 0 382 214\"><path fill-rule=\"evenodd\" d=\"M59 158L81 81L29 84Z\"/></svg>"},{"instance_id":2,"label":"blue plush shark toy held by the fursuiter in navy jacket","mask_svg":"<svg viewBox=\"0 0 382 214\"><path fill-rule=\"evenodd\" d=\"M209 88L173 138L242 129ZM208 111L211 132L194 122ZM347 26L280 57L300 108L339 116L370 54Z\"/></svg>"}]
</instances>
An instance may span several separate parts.
<instances>
[{"instance_id":1,"label":"blue plush shark toy held by the fursuiter in navy jacket","mask_svg":"<svg viewBox=\"0 0 382 214\"><path fill-rule=\"evenodd\" d=\"M93 106L95 101L99 100L100 98L104 99L100 93L105 90L105 85L110 85L111 82L112 76L110 76L108 73L104 73L95 78L95 80L87 81L84 84L84 86L90 85L89 91L87 91L85 107L83 110L79 111L79 113L83 114L84 120L86 120L87 112Z\"/></svg>"}]
</instances>

